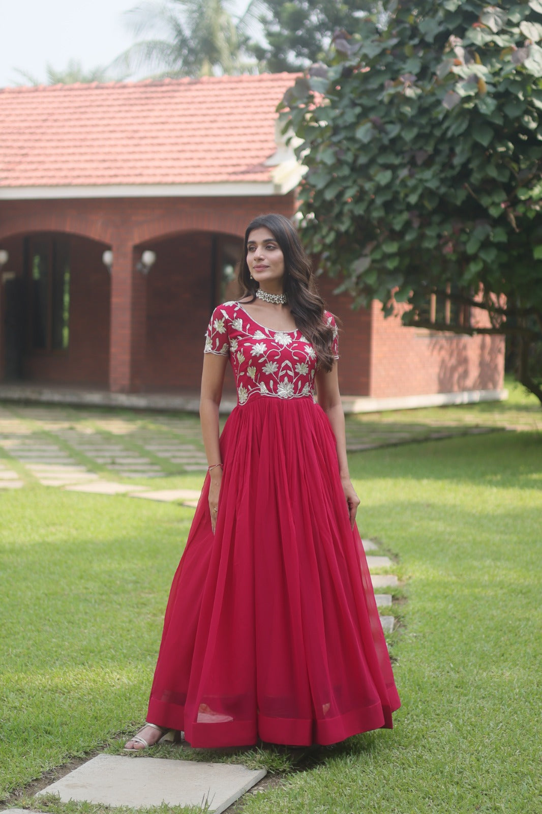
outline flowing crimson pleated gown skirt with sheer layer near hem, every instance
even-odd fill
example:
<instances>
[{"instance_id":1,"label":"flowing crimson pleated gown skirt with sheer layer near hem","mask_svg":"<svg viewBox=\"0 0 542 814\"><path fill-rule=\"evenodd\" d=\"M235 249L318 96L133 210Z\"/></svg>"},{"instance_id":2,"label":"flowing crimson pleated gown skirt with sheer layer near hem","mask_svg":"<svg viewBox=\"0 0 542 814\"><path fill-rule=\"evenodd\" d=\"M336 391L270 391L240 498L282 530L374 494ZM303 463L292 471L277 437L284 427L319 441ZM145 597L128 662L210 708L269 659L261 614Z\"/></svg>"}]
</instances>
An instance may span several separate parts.
<instances>
[{"instance_id":1,"label":"flowing crimson pleated gown skirt with sheer layer near hem","mask_svg":"<svg viewBox=\"0 0 542 814\"><path fill-rule=\"evenodd\" d=\"M252 396L221 434L173 579L146 720L192 746L330 744L391 728L400 700L330 422L312 396Z\"/></svg>"}]
</instances>

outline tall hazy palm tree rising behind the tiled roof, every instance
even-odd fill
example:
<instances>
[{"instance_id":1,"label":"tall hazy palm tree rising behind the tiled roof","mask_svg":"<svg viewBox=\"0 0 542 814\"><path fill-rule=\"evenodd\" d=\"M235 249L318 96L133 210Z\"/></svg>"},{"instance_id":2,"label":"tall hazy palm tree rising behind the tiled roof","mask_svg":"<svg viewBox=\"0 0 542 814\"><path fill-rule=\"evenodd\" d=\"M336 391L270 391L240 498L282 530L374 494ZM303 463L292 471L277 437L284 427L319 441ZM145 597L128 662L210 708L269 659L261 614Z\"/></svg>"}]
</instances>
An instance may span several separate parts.
<instances>
[{"instance_id":1,"label":"tall hazy palm tree rising behind the tiled roof","mask_svg":"<svg viewBox=\"0 0 542 814\"><path fill-rule=\"evenodd\" d=\"M149 68L158 77L202 77L248 72L251 22L263 8L252 0L238 19L229 10L232 0L164 0L146 2L127 12L136 36L155 34L136 42L116 59L129 72ZM156 73L157 72L157 73Z\"/></svg>"}]
</instances>

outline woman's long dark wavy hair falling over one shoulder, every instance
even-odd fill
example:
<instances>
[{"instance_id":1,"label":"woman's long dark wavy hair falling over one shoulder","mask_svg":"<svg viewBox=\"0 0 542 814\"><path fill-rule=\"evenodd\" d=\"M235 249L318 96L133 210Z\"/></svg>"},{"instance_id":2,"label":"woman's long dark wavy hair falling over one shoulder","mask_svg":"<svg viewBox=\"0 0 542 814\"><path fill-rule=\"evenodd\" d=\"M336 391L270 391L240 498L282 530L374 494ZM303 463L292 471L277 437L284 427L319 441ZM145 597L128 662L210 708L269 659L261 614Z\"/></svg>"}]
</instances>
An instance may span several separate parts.
<instances>
[{"instance_id":1,"label":"woman's long dark wavy hair falling over one shoulder","mask_svg":"<svg viewBox=\"0 0 542 814\"><path fill-rule=\"evenodd\" d=\"M301 246L294 225L284 215L271 212L269 215L255 217L248 224L238 274L238 281L243 289L241 299L251 295L253 302L260 287L251 278L247 265L248 236L255 229L269 229L281 248L284 256L284 292L295 325L313 344L321 369L331 370L334 361L331 352L333 329L324 321L324 300L318 294L311 262Z\"/></svg>"}]
</instances>

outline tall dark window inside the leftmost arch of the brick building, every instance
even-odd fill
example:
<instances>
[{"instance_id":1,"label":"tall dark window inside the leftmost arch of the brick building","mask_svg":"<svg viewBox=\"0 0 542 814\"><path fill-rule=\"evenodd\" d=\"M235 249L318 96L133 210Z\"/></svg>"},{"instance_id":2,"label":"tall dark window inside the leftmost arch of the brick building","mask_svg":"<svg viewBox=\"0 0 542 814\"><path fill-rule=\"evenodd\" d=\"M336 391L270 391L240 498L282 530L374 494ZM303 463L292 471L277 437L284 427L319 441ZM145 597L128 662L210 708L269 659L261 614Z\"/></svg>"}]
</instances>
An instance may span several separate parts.
<instances>
[{"instance_id":1,"label":"tall dark window inside the leftmost arch of the brick building","mask_svg":"<svg viewBox=\"0 0 542 814\"><path fill-rule=\"evenodd\" d=\"M69 344L69 243L62 237L28 239L30 346L66 350Z\"/></svg>"}]
</instances>

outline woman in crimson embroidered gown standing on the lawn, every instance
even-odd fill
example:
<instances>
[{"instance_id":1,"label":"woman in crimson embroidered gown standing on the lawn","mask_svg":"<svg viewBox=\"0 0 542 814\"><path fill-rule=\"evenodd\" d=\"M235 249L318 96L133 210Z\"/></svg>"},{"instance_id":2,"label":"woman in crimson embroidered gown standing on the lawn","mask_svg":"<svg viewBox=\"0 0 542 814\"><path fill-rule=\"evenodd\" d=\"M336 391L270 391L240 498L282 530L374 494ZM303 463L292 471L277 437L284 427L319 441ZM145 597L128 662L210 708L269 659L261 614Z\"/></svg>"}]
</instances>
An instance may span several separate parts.
<instances>
[{"instance_id":1,"label":"woman in crimson embroidered gown standing on the lawn","mask_svg":"<svg viewBox=\"0 0 542 814\"><path fill-rule=\"evenodd\" d=\"M169 596L151 724L129 751L167 729L192 746L330 744L391 727L400 706L355 524L337 328L286 217L248 226L239 280L243 297L208 326L208 476ZM228 359L238 405L219 438Z\"/></svg>"}]
</instances>

